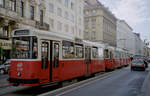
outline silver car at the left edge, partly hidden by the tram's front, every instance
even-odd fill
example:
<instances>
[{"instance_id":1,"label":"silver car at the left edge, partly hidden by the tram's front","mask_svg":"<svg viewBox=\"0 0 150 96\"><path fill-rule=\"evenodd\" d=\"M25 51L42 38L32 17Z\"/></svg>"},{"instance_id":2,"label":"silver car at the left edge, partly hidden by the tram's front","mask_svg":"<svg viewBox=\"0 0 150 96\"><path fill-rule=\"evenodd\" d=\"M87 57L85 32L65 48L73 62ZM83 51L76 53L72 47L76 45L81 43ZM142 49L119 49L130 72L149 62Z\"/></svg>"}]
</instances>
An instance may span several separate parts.
<instances>
[{"instance_id":1,"label":"silver car at the left edge, partly hidden by the tram's front","mask_svg":"<svg viewBox=\"0 0 150 96\"><path fill-rule=\"evenodd\" d=\"M5 63L0 65L0 74L8 73L10 69L10 59L8 59Z\"/></svg>"}]
</instances>

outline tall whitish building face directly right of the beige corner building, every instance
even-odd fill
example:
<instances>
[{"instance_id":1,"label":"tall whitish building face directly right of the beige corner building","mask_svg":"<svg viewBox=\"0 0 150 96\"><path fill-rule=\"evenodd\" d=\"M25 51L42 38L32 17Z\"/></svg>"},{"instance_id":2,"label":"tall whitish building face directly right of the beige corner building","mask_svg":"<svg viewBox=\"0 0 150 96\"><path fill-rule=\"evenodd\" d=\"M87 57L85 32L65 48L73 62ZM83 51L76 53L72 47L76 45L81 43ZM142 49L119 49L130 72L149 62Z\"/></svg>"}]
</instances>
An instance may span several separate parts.
<instances>
[{"instance_id":1,"label":"tall whitish building face directly right of the beige corner building","mask_svg":"<svg viewBox=\"0 0 150 96\"><path fill-rule=\"evenodd\" d=\"M117 20L117 47L134 54L134 33L133 29L124 20Z\"/></svg>"}]
</instances>

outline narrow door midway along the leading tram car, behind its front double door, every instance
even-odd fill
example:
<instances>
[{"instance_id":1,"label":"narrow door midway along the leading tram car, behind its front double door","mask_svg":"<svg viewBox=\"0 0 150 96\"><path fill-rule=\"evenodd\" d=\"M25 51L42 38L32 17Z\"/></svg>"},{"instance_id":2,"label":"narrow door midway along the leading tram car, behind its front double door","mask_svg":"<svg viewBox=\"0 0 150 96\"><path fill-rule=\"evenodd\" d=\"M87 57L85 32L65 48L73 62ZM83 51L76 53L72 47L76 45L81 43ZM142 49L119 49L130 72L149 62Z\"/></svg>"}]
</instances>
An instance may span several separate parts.
<instances>
[{"instance_id":1,"label":"narrow door midway along the leading tram car, behind its front double door","mask_svg":"<svg viewBox=\"0 0 150 96\"><path fill-rule=\"evenodd\" d=\"M90 74L91 48L89 46L85 47L85 64L87 67L87 74Z\"/></svg>"}]
</instances>

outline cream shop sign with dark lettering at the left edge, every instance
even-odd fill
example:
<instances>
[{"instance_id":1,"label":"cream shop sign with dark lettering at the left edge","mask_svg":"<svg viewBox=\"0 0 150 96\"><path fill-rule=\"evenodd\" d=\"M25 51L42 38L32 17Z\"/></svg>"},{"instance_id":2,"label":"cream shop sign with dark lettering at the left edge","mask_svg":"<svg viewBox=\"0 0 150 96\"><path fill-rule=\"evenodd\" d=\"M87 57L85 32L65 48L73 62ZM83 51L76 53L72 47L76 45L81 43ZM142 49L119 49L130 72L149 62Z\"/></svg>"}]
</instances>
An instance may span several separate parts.
<instances>
[{"instance_id":1,"label":"cream shop sign with dark lettering at the left edge","mask_svg":"<svg viewBox=\"0 0 150 96\"><path fill-rule=\"evenodd\" d=\"M4 50L11 50L11 40L0 39L0 47Z\"/></svg>"}]
</instances>

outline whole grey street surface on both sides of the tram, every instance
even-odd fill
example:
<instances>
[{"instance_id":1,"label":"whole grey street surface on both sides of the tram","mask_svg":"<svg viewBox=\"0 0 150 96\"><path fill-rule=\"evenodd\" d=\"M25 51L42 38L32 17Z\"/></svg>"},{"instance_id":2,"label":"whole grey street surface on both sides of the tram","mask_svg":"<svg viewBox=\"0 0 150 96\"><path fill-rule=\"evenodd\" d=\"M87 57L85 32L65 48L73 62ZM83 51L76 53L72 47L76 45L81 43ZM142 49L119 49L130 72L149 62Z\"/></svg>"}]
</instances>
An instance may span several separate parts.
<instances>
[{"instance_id":1,"label":"whole grey street surface on both sides of the tram","mask_svg":"<svg viewBox=\"0 0 150 96\"><path fill-rule=\"evenodd\" d=\"M143 96L141 88L143 82L149 72L146 71L130 71L130 68L123 68L113 72L102 78L94 79L73 87L66 91L57 92L58 96ZM46 95L52 96L56 88L31 88L31 87L13 87L7 86L7 75L0 75L0 95L1 96L35 96L46 92ZM74 84L73 84L74 85ZM70 85L70 86L73 86ZM56 89L58 90L58 89ZM52 93L52 94L51 94Z\"/></svg>"}]
</instances>

